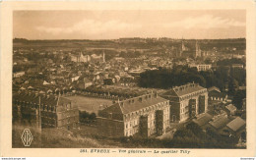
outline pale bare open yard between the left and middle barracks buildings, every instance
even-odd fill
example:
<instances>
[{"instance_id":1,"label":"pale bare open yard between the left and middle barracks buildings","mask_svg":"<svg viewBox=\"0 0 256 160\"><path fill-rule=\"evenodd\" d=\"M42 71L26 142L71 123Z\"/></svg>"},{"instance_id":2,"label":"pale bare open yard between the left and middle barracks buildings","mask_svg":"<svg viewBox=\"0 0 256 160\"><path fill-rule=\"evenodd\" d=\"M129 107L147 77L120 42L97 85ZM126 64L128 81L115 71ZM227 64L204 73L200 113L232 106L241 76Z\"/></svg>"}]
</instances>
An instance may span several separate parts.
<instances>
[{"instance_id":1,"label":"pale bare open yard between the left and middle barracks buildings","mask_svg":"<svg viewBox=\"0 0 256 160\"><path fill-rule=\"evenodd\" d=\"M81 111L87 111L90 113L96 113L100 109L100 105L110 106L112 104L112 100L110 99L101 99L94 97L86 97L86 96L68 96L68 99L74 100ZM101 108L102 109L102 108Z\"/></svg>"}]
</instances>

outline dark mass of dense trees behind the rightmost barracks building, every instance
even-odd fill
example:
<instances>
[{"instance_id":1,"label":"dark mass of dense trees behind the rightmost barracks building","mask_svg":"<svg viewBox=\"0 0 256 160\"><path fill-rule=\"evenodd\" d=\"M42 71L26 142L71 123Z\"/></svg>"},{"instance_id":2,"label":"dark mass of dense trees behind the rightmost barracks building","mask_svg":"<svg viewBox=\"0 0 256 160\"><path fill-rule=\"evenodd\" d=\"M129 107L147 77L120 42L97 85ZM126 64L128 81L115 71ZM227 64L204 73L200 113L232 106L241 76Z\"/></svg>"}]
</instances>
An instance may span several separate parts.
<instances>
[{"instance_id":1,"label":"dark mass of dense trees behind the rightmost barracks building","mask_svg":"<svg viewBox=\"0 0 256 160\"><path fill-rule=\"evenodd\" d=\"M220 66L214 71L198 72L196 68L174 65L172 69L160 68L141 73L138 85L167 89L193 81L203 87L217 86L229 95L234 95L239 86L246 84L246 71Z\"/></svg>"}]
</instances>

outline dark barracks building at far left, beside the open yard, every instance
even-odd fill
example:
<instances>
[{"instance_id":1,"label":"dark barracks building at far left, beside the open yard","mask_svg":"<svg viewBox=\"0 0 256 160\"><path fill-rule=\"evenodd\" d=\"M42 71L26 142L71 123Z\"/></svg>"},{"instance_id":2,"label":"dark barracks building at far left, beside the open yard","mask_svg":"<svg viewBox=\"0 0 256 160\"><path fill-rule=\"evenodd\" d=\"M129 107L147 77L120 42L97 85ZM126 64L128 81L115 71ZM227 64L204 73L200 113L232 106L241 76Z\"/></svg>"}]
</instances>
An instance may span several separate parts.
<instances>
[{"instance_id":1,"label":"dark barracks building at far left, beside the open yard","mask_svg":"<svg viewBox=\"0 0 256 160\"><path fill-rule=\"evenodd\" d=\"M39 128L71 130L79 126L79 110L65 97L21 92L13 96L13 120L27 120Z\"/></svg>"}]
</instances>

